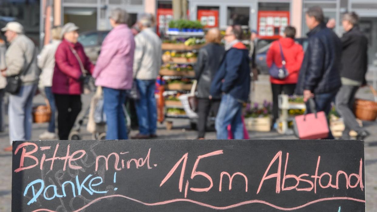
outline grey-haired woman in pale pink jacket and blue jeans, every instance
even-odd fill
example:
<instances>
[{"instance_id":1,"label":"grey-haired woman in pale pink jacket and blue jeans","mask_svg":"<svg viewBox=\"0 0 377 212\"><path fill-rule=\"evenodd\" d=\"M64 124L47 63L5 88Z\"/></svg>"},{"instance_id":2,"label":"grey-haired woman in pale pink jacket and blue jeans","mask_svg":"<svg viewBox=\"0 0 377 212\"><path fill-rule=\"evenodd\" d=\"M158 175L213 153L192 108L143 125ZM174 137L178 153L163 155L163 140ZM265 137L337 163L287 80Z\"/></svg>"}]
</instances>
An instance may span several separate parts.
<instances>
[{"instance_id":1,"label":"grey-haired woman in pale pink jacket and blue jeans","mask_svg":"<svg viewBox=\"0 0 377 212\"><path fill-rule=\"evenodd\" d=\"M110 24L113 29L103 41L93 72L95 84L103 88L108 140L128 139L123 104L126 90L132 87L135 41L126 24L127 18L127 12L122 9L111 12Z\"/></svg>"}]
</instances>

